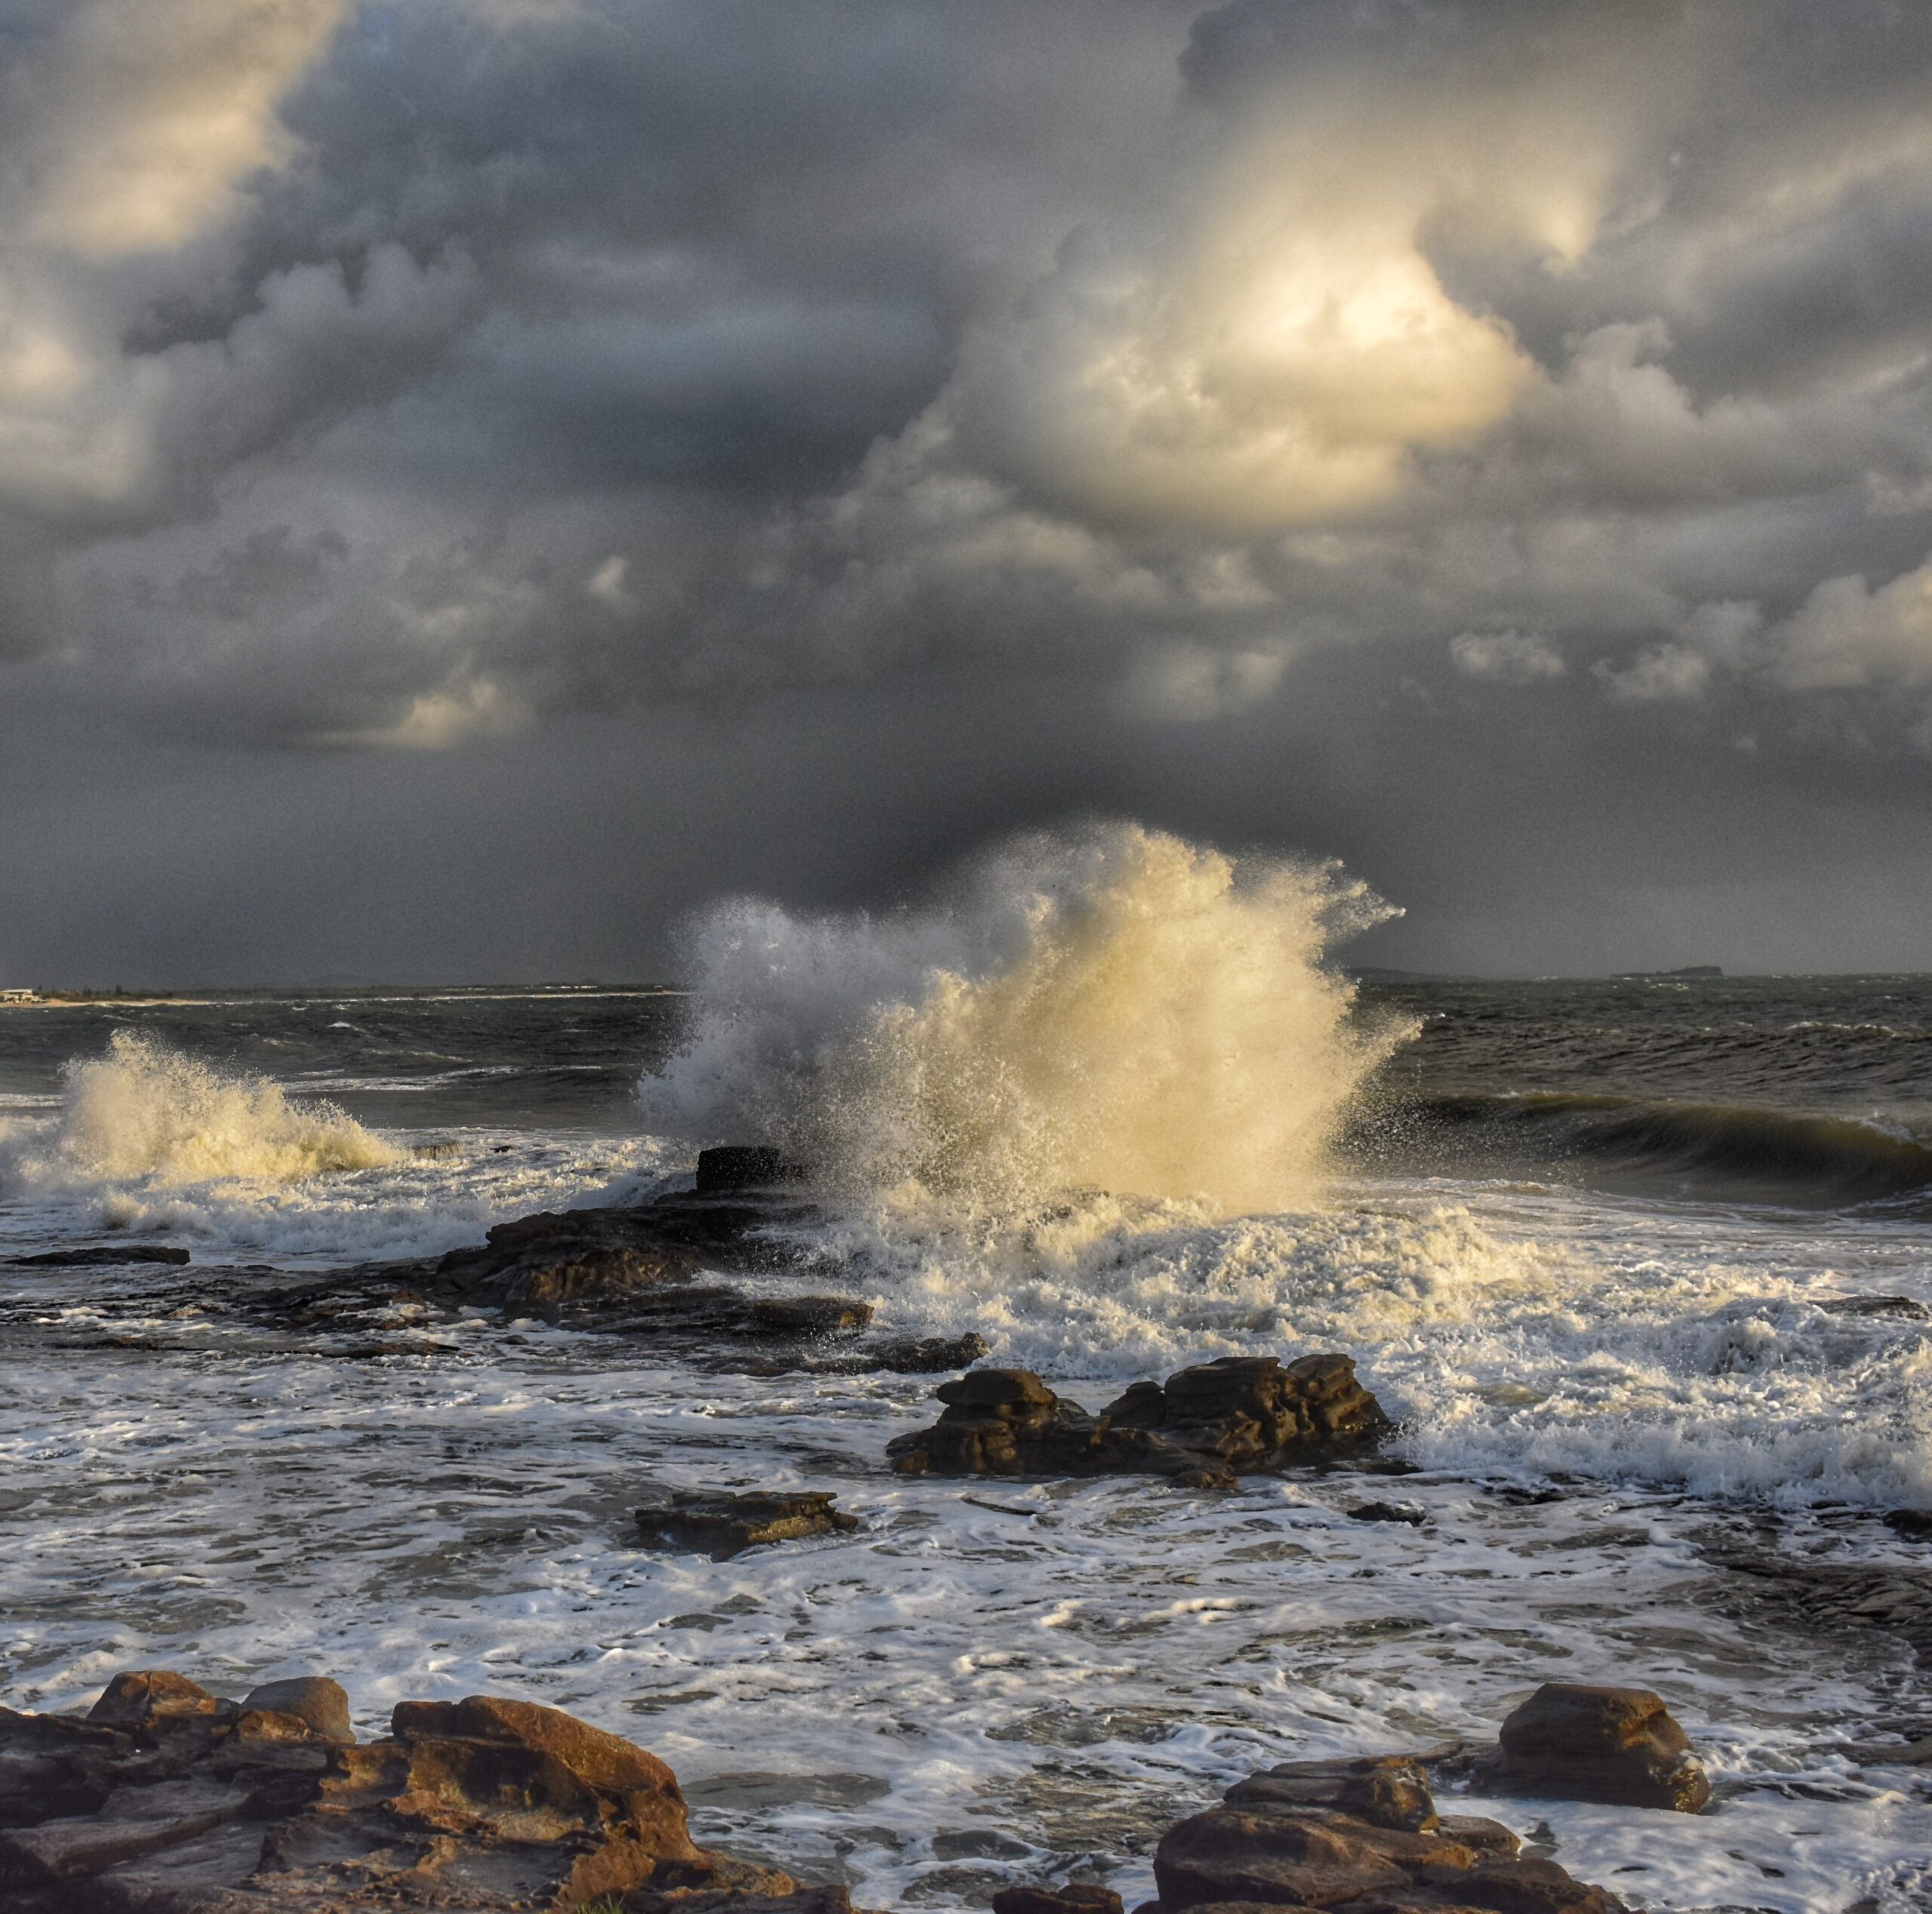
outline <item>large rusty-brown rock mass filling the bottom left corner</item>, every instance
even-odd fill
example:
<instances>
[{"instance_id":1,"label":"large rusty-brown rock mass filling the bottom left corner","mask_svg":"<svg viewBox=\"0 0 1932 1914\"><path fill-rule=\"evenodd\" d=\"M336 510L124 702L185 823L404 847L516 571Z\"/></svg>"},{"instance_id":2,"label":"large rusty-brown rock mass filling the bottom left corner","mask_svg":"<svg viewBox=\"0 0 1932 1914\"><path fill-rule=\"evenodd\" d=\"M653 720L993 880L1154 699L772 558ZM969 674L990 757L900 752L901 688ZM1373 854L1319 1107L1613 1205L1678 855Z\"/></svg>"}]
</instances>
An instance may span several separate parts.
<instances>
[{"instance_id":1,"label":"large rusty-brown rock mass filling the bottom left corner","mask_svg":"<svg viewBox=\"0 0 1932 1914\"><path fill-rule=\"evenodd\" d=\"M489 1914L641 1889L626 1904L651 1914L848 1914L838 1889L697 1848L670 1769L558 1709L404 1702L383 1740L346 1729L319 1678L236 1703L141 1671L85 1719L0 1709L0 1906Z\"/></svg>"}]
</instances>

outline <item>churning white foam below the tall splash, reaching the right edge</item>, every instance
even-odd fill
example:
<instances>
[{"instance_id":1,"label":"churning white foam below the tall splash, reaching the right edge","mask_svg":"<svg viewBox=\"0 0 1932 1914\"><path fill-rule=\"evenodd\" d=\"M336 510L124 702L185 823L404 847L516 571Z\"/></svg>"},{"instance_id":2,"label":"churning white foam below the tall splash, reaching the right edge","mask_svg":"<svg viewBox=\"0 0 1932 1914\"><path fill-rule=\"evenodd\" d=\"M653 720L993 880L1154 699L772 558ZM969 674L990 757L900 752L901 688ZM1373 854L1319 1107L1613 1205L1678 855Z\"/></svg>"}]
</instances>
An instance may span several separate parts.
<instances>
[{"instance_id":1,"label":"churning white foam below the tall splash, reaching the right edge","mask_svg":"<svg viewBox=\"0 0 1932 1914\"><path fill-rule=\"evenodd\" d=\"M1833 1248L1859 1267L1911 1238ZM1673 1230L1617 1199L1379 1184L1236 1219L1103 1196L964 1221L879 1201L823 1250L889 1319L978 1329L993 1360L1086 1383L1094 1406L1221 1354L1339 1348L1435 1468L1932 1503L1932 1335L1820 1308L1859 1284L1816 1265L1803 1223L1714 1211Z\"/></svg>"}]
</instances>

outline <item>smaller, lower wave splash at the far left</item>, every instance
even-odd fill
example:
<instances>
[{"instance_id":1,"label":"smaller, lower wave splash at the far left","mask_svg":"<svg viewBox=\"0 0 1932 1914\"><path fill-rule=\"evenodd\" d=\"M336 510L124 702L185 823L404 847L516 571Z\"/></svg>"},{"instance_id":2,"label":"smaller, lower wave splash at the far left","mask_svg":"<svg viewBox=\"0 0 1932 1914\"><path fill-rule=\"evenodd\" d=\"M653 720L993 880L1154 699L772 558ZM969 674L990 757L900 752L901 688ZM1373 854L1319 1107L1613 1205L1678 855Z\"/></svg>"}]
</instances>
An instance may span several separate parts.
<instances>
[{"instance_id":1,"label":"smaller, lower wave splash at the far left","mask_svg":"<svg viewBox=\"0 0 1932 1914\"><path fill-rule=\"evenodd\" d=\"M224 1074L131 1029L64 1076L58 1118L0 1159L15 1188L296 1182L398 1159L332 1103L290 1101L269 1078Z\"/></svg>"}]
</instances>

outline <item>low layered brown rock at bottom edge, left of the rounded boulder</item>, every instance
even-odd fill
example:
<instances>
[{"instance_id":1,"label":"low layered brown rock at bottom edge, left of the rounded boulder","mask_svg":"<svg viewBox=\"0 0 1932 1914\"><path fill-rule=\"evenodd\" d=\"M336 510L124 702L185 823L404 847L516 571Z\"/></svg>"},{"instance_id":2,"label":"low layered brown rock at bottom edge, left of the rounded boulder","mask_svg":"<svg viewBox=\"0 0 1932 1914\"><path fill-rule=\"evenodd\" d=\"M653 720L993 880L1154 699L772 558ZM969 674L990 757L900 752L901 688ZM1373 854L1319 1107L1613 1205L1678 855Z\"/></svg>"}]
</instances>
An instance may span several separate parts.
<instances>
[{"instance_id":1,"label":"low layered brown rock at bottom edge, left of the rounded boulder","mask_svg":"<svg viewBox=\"0 0 1932 1914\"><path fill-rule=\"evenodd\" d=\"M1520 1860L1499 1821L1441 1815L1414 1756L1285 1761L1221 1808L1169 1829L1153 1914L1233 1906L1349 1914L1619 1914L1621 1902L1546 1860ZM1148 1914L1148 1910L1142 1910Z\"/></svg>"}]
</instances>

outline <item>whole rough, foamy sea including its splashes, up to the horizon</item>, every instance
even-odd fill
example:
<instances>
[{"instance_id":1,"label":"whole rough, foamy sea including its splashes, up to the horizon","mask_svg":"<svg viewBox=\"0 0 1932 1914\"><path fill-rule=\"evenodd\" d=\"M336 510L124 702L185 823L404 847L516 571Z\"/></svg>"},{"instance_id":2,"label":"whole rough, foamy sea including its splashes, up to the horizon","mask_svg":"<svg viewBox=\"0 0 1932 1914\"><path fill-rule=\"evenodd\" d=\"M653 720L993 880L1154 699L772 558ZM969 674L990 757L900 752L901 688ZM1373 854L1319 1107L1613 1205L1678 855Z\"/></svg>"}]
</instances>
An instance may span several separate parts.
<instances>
[{"instance_id":1,"label":"whole rough, foamy sea including its splashes, up to the horizon","mask_svg":"<svg viewBox=\"0 0 1932 1914\"><path fill-rule=\"evenodd\" d=\"M1718 1812L1468 1806L1638 1906L1932 1906L1928 1771L1859 1752L1932 1734L1909 1651L1706 1553L1932 1568L1880 1520L1932 1506L1932 981L1358 989L1335 952L1378 908L1097 827L900 914L723 908L688 995L0 1008L0 1257L193 1255L0 1263L0 1700L129 1665L334 1671L369 1727L524 1694L661 1752L707 1839L864 1904L1086 1856L1132 1904L1165 1819L1262 1761L1627 1680ZM771 1288L976 1329L1090 1406L1347 1348L1414 1472L910 1481L883 1450L931 1377L222 1306L649 1197L719 1140L835 1192ZM864 1526L638 1549L630 1510L697 1485L833 1489ZM1387 1499L1426 1526L1349 1518Z\"/></svg>"}]
</instances>

